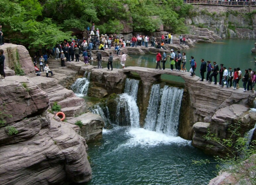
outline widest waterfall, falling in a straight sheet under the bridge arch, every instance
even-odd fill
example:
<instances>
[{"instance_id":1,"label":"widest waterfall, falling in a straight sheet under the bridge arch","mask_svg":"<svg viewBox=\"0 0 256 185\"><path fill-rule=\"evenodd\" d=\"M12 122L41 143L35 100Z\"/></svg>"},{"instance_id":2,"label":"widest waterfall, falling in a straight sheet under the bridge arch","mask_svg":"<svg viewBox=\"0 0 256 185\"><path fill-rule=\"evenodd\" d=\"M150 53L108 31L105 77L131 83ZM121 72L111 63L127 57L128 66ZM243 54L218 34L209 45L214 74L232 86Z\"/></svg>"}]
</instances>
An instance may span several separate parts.
<instances>
[{"instance_id":1,"label":"widest waterfall, falling in a straight sheet under the bridge arch","mask_svg":"<svg viewBox=\"0 0 256 185\"><path fill-rule=\"evenodd\" d=\"M182 95L183 89L153 85L144 128L177 136Z\"/></svg>"}]
</instances>

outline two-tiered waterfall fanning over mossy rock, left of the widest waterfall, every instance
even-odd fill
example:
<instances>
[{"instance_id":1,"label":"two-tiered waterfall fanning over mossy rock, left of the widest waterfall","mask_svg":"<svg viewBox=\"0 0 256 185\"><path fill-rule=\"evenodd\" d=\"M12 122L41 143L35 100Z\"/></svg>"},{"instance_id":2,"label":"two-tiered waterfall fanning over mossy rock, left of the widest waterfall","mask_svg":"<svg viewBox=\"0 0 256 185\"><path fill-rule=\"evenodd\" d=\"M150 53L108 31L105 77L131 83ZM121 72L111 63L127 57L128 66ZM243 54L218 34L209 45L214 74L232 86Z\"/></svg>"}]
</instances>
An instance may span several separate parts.
<instances>
[{"instance_id":1,"label":"two-tiered waterfall fanning over mossy rock, left of the widest waterfall","mask_svg":"<svg viewBox=\"0 0 256 185\"><path fill-rule=\"evenodd\" d=\"M137 106L139 80L126 79L124 93L116 99L117 108L115 123L121 125L131 125L139 127L139 108Z\"/></svg>"}]
</instances>

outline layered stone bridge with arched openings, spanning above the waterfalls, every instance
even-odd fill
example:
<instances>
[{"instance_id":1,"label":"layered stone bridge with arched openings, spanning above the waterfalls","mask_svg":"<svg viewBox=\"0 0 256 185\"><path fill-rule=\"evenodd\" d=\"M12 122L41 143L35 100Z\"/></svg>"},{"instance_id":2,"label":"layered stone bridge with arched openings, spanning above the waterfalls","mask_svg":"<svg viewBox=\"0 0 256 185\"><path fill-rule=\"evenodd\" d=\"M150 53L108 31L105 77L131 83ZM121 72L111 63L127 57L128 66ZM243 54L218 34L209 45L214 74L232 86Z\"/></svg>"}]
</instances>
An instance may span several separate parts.
<instances>
[{"instance_id":1,"label":"layered stone bridge with arched openings, spanning above the waterfalls","mask_svg":"<svg viewBox=\"0 0 256 185\"><path fill-rule=\"evenodd\" d=\"M209 122L216 111L232 104L250 106L256 96L256 93L243 92L242 89L233 91L230 88L216 88L214 84L200 81L198 76L191 77L188 72L181 73L141 67L127 67L125 69L113 69L113 71L92 69L92 87L102 87L109 94L122 93L125 78L131 76L131 72L137 72L141 78L144 99L149 95L152 84L160 80L161 74L180 76L185 80L185 98L183 98L181 108L183 114L179 126L180 136L185 139L192 139L194 123Z\"/></svg>"}]
</instances>

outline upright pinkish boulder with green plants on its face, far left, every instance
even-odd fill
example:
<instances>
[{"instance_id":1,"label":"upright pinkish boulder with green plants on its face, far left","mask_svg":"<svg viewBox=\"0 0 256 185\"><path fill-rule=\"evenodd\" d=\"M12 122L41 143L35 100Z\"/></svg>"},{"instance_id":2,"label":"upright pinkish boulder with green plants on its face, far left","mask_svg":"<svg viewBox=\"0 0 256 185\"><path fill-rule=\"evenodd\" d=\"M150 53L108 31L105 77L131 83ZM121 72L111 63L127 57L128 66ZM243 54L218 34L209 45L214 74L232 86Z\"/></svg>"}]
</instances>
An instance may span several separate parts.
<instances>
[{"instance_id":1,"label":"upright pinkish boulder with green plants on its face, far left","mask_svg":"<svg viewBox=\"0 0 256 185\"><path fill-rule=\"evenodd\" d=\"M21 69L23 69L26 74L34 71L32 59L29 55L29 51L26 49L25 46L15 44L4 44L4 46L2 46L1 49L4 50L5 67L14 69L15 64L19 63ZM8 76L10 75L15 75L15 73L12 72L11 74L8 74Z\"/></svg>"}]
</instances>

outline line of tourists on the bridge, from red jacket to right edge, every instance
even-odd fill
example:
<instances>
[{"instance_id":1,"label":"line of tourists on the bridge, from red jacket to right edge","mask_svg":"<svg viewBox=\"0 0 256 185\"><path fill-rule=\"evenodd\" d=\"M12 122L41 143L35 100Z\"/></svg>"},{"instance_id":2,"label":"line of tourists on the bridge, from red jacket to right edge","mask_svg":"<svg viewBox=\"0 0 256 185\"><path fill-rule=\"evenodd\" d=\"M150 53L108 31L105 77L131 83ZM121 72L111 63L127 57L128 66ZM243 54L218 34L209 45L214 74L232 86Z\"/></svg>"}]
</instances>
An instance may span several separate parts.
<instances>
[{"instance_id":1,"label":"line of tourists on the bridge, from red jacket to right edge","mask_svg":"<svg viewBox=\"0 0 256 185\"><path fill-rule=\"evenodd\" d=\"M170 58L170 70L174 70L174 66L176 71L181 71L181 72L188 72L185 65L187 63L187 57L186 53L183 52L182 55L180 54L180 51L177 51L177 54L174 53L174 51L171 49L170 55L166 55L165 51L162 52L162 55L160 51L158 51L157 57L156 57L156 69L165 69L165 63L167 61L167 58ZM190 70L189 72L191 73L191 76L194 76L197 64L193 56L191 56L190 62ZM160 63L162 63L162 68ZM217 84L217 76L219 74L220 80L219 80L219 85L221 87L224 87L226 85L226 88L232 87L233 85L233 90L236 90L239 88L239 81L240 79L243 81L243 88L244 92L245 91L254 91L254 85L256 82L256 74L255 71L252 71L252 69L245 69L244 75L242 76L242 71L240 68L234 68L232 70L231 67L226 68L224 64L220 64L220 68L217 64L217 62L213 62L213 65L211 64L211 61L205 62L204 59L201 59L201 66L200 66L200 75L201 75L201 81L204 81L205 79L205 72L207 71L206 74L206 81L212 82L212 78L214 77L214 84Z\"/></svg>"}]
</instances>

